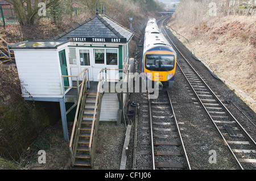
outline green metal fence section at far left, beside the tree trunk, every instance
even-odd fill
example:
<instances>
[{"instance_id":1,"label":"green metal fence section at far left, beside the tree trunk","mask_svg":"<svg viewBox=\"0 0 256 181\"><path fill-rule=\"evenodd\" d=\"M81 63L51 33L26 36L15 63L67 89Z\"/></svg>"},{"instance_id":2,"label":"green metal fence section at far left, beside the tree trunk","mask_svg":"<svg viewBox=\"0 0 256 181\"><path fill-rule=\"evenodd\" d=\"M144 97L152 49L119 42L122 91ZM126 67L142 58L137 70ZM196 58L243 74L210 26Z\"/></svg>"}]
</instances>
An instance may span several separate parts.
<instances>
[{"instance_id":1,"label":"green metal fence section at far left, beside the tree trunk","mask_svg":"<svg viewBox=\"0 0 256 181\"><path fill-rule=\"evenodd\" d=\"M6 31L18 31L18 15L11 6L0 6L0 26Z\"/></svg>"}]
</instances>

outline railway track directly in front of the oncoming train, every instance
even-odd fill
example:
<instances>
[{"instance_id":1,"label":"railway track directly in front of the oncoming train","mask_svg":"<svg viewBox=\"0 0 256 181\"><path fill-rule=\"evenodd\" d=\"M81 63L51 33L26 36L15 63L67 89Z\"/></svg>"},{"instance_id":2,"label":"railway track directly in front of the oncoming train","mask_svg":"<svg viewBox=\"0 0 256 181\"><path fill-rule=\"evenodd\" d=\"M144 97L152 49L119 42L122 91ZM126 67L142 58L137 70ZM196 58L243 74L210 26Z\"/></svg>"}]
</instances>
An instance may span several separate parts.
<instances>
[{"instance_id":1,"label":"railway track directly in front of the oncoming train","mask_svg":"<svg viewBox=\"0 0 256 181\"><path fill-rule=\"evenodd\" d=\"M145 169L191 169L180 135L168 91L160 91L158 98L152 99L144 93L147 113L142 122L143 146L141 155L145 158ZM160 115L160 116L159 116ZM139 168L138 168L139 169Z\"/></svg>"}]
</instances>

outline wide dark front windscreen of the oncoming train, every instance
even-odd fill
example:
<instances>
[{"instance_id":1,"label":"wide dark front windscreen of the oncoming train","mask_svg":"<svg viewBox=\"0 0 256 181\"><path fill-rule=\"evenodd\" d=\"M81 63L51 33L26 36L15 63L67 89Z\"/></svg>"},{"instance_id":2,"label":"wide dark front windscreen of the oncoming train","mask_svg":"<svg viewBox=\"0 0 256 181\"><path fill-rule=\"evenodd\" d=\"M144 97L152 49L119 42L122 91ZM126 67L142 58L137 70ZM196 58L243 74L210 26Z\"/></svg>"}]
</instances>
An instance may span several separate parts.
<instances>
[{"instance_id":1,"label":"wide dark front windscreen of the oncoming train","mask_svg":"<svg viewBox=\"0 0 256 181\"><path fill-rule=\"evenodd\" d=\"M170 71L174 69L175 56L172 54L147 54L145 68L152 71Z\"/></svg>"}]
</instances>

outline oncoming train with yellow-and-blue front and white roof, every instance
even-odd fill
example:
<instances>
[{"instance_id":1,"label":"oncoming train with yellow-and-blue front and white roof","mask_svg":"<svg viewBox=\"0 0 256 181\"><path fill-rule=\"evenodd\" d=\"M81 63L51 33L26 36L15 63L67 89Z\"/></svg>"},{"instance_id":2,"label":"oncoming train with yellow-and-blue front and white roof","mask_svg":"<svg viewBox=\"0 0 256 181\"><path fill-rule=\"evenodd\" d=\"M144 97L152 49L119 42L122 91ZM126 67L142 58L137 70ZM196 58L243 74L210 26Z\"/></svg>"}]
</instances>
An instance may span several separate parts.
<instances>
[{"instance_id":1,"label":"oncoming train with yellow-and-blue front and white roof","mask_svg":"<svg viewBox=\"0 0 256 181\"><path fill-rule=\"evenodd\" d=\"M176 52L161 33L156 19L147 22L144 35L142 72L146 85L174 85Z\"/></svg>"}]
</instances>

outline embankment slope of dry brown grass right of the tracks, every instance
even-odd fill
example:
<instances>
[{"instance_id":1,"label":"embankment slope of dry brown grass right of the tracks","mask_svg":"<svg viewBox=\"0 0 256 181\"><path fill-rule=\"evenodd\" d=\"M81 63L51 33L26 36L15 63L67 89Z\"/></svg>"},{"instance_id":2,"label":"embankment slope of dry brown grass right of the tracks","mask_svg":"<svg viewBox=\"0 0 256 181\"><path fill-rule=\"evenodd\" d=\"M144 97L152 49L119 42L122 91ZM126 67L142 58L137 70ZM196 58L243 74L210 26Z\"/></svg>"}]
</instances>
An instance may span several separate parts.
<instances>
[{"instance_id":1,"label":"embankment slope of dry brown grass right of the tracks","mask_svg":"<svg viewBox=\"0 0 256 181\"><path fill-rule=\"evenodd\" d=\"M174 35L256 111L256 16L211 17L197 25L175 17L168 22Z\"/></svg>"}]
</instances>

